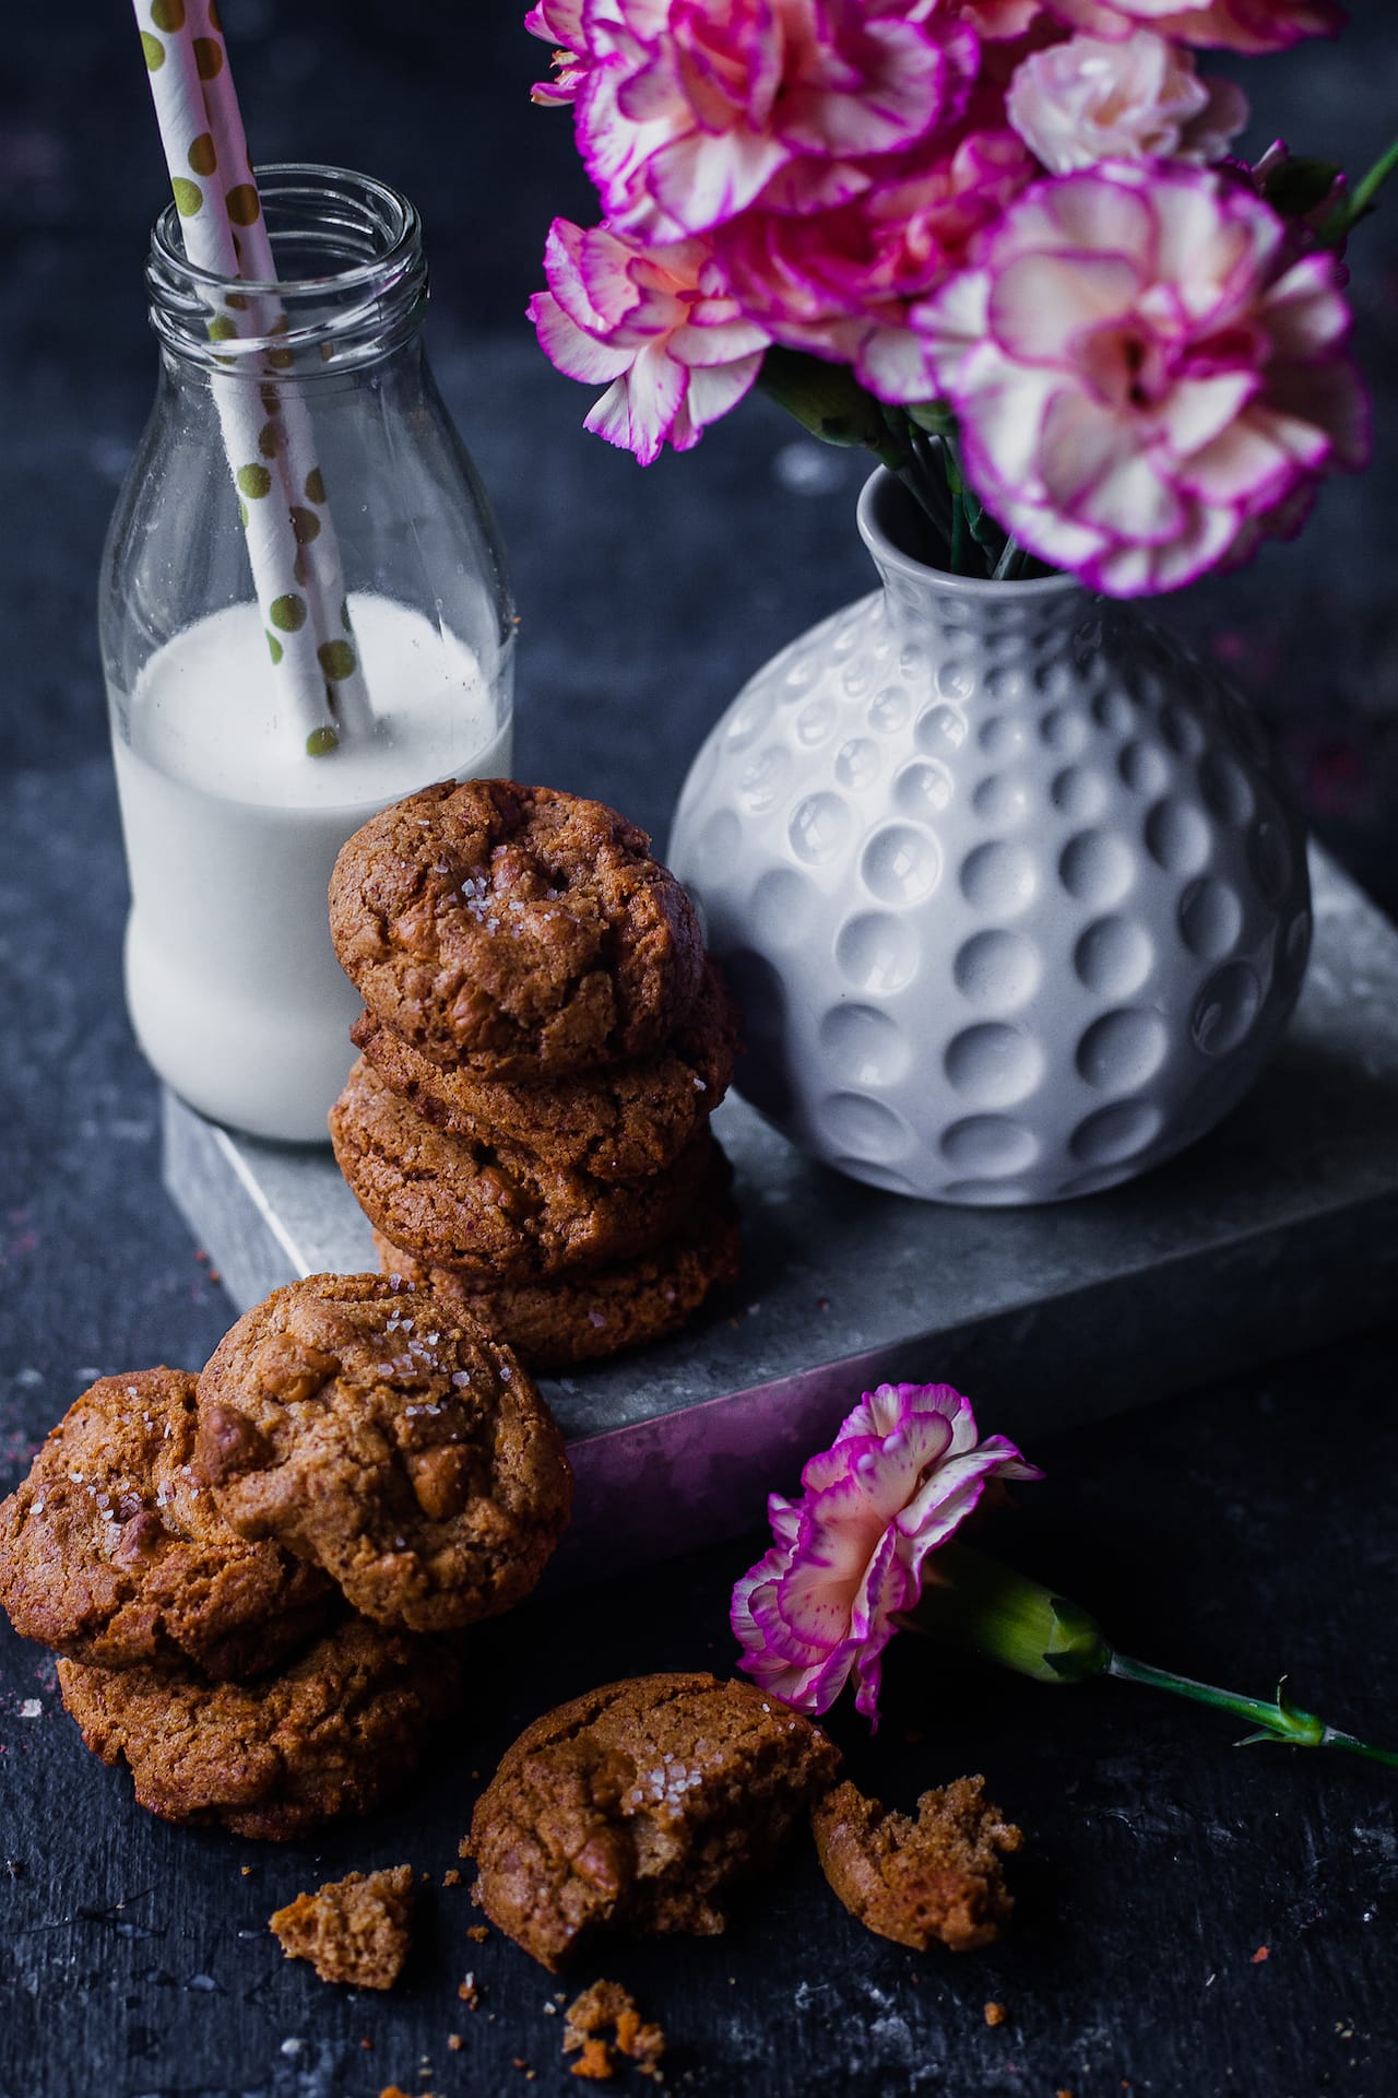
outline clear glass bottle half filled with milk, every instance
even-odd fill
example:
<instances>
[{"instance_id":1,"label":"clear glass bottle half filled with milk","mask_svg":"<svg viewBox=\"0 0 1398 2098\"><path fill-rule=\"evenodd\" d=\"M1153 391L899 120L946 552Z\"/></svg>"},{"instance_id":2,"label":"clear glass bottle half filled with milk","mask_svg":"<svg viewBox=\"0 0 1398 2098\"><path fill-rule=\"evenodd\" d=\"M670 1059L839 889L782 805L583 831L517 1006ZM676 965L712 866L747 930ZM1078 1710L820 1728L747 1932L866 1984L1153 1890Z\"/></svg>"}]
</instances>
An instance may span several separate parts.
<instances>
[{"instance_id":1,"label":"clear glass bottle half filled with milk","mask_svg":"<svg viewBox=\"0 0 1398 2098\"><path fill-rule=\"evenodd\" d=\"M321 1143L358 1011L329 940L335 854L432 780L509 772L516 623L486 495L423 357L417 212L335 168L258 180L275 304L195 269L174 208L155 224L159 388L107 535L101 646L140 1047L214 1120ZM249 308L258 325L275 315L264 336L243 334ZM249 415L262 438L235 489L226 432ZM268 623L245 529L279 491L296 575ZM308 640L308 602L331 617L327 573L335 638L316 650L308 722L283 655Z\"/></svg>"}]
</instances>

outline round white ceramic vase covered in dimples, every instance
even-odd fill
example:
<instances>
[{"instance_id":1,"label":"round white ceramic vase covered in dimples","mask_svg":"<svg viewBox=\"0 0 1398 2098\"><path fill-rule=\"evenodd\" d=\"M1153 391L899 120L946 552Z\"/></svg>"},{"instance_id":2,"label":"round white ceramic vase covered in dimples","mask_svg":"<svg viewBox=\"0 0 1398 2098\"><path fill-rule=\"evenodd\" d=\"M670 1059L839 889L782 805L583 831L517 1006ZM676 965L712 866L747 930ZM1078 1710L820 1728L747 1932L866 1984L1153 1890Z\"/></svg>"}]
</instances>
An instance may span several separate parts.
<instances>
[{"instance_id":1,"label":"round white ceramic vase covered in dimples","mask_svg":"<svg viewBox=\"0 0 1398 2098\"><path fill-rule=\"evenodd\" d=\"M744 1011L738 1087L937 1202L1056 1202L1170 1158L1255 1078L1310 948L1299 818L1241 699L1069 577L882 590L738 694L671 864Z\"/></svg>"}]
</instances>

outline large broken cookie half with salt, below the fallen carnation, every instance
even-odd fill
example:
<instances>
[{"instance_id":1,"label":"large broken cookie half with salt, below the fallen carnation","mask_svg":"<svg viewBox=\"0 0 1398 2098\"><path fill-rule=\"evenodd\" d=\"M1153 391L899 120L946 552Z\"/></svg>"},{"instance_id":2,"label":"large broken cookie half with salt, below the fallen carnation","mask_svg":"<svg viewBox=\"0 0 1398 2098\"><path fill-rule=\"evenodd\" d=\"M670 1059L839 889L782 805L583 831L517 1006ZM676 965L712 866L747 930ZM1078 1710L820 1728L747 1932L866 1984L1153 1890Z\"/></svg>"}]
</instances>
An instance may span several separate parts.
<instances>
[{"instance_id":1,"label":"large broken cookie half with salt, below the fallen carnation","mask_svg":"<svg viewBox=\"0 0 1398 2098\"><path fill-rule=\"evenodd\" d=\"M461 1855L490 1922L549 1970L602 1928L708 1936L729 1884L767 1865L838 1760L748 1683L635 1676L520 1735Z\"/></svg>"}]
</instances>

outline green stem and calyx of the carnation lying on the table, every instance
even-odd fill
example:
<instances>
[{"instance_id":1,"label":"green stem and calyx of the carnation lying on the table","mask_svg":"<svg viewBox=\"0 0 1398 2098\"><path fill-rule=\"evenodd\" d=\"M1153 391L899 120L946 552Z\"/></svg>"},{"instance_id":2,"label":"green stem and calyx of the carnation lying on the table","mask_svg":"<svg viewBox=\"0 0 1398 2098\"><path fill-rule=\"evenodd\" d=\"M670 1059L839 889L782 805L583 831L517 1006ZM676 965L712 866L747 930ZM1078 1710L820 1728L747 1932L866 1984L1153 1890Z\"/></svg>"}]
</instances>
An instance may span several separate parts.
<instances>
[{"instance_id":1,"label":"green stem and calyx of the carnation lying on the table","mask_svg":"<svg viewBox=\"0 0 1398 2098\"><path fill-rule=\"evenodd\" d=\"M981 1653L1002 1668L1014 1668L1035 1683L1086 1683L1092 1676L1115 1676L1119 1683L1140 1683L1149 1689L1172 1691L1195 1704L1214 1706L1247 1720L1255 1733L1247 1741L1289 1741L1293 1748L1346 1748L1354 1756L1369 1756L1398 1769L1398 1754L1373 1748L1352 1733L1341 1733L1302 1712L1285 1697L1285 1683L1276 1697L1241 1697L1237 1691L1220 1691L1209 1683L1195 1683L1193 1676L1176 1676L1165 1668L1151 1668L1149 1662L1134 1662L1117 1653L1107 1634L1079 1603L1054 1594L1040 1582L1017 1574L1012 1567L987 1559L970 1544L943 1544L926 1563L922 1601L916 1613L899 1620L912 1630L929 1632L947 1645Z\"/></svg>"}]
</instances>

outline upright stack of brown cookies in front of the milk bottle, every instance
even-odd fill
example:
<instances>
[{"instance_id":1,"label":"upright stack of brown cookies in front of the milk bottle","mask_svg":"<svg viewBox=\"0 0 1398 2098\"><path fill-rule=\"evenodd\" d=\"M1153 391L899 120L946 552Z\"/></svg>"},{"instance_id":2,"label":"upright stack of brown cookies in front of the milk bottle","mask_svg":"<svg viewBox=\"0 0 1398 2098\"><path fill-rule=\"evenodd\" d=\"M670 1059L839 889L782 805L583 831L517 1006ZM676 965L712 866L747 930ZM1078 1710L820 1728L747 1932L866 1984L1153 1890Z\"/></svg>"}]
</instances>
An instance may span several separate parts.
<instances>
[{"instance_id":1,"label":"upright stack of brown cookies in front of the milk bottle","mask_svg":"<svg viewBox=\"0 0 1398 2098\"><path fill-rule=\"evenodd\" d=\"M331 1139L390 1273L537 1370L675 1332L736 1276L708 1129L736 1015L643 831L446 780L354 833L329 906L367 1007Z\"/></svg>"}]
</instances>

